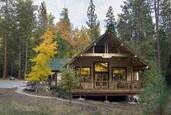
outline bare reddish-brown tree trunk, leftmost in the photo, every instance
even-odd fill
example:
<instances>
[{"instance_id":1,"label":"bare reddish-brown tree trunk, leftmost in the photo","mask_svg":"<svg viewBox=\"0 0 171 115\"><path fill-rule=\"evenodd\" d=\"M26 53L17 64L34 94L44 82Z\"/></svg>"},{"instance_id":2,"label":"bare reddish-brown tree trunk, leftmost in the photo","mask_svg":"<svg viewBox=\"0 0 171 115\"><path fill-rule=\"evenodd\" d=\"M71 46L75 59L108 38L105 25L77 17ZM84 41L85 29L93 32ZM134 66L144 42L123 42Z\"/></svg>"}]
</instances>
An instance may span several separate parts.
<instances>
[{"instance_id":1,"label":"bare reddish-brown tree trunk, leftmost in the photo","mask_svg":"<svg viewBox=\"0 0 171 115\"><path fill-rule=\"evenodd\" d=\"M4 67L3 67L3 79L7 78L7 38L4 38Z\"/></svg>"}]
</instances>

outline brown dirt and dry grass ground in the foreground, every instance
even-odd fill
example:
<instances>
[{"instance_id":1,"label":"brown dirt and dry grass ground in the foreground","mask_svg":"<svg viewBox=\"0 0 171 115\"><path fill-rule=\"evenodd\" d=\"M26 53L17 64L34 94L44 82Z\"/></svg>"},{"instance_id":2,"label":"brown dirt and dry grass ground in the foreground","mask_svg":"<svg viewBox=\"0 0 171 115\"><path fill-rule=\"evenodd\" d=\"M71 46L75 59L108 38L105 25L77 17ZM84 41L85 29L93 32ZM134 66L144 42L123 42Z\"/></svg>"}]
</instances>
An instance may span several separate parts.
<instances>
[{"instance_id":1,"label":"brown dirt and dry grass ground in the foreground","mask_svg":"<svg viewBox=\"0 0 171 115\"><path fill-rule=\"evenodd\" d=\"M42 99L0 89L0 115L142 115L138 105L107 104L86 101L72 104L56 99Z\"/></svg>"}]
</instances>

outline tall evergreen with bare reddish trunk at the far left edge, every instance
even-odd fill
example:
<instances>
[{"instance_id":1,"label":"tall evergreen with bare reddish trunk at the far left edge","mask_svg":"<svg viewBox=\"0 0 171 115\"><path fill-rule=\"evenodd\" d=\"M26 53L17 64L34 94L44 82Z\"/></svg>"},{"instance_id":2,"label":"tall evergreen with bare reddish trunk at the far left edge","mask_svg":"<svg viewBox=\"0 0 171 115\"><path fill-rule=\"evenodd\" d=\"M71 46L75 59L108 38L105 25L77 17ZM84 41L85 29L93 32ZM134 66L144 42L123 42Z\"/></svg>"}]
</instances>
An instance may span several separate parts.
<instances>
[{"instance_id":1,"label":"tall evergreen with bare reddish trunk at the far left edge","mask_svg":"<svg viewBox=\"0 0 171 115\"><path fill-rule=\"evenodd\" d=\"M2 39L3 47L3 78L8 76L8 54L9 54L9 40L12 38L12 30L14 27L14 16L15 16L15 1L13 0L1 0L2 5L0 6L0 34Z\"/></svg>"}]
</instances>

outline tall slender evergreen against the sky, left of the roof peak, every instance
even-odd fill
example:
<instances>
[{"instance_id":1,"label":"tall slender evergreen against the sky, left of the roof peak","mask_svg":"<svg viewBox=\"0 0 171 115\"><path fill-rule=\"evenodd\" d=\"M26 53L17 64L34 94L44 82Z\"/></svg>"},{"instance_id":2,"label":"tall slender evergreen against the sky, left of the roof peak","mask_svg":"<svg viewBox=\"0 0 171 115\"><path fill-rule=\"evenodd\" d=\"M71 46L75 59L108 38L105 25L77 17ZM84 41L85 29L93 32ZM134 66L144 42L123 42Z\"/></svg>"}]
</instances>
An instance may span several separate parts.
<instances>
[{"instance_id":1,"label":"tall slender evergreen against the sky, left of the roof peak","mask_svg":"<svg viewBox=\"0 0 171 115\"><path fill-rule=\"evenodd\" d=\"M86 24L89 27L89 34L91 39L94 40L100 35L100 23L97 21L93 0L90 0L89 7L87 9L87 17L88 21L86 21Z\"/></svg>"}]
</instances>

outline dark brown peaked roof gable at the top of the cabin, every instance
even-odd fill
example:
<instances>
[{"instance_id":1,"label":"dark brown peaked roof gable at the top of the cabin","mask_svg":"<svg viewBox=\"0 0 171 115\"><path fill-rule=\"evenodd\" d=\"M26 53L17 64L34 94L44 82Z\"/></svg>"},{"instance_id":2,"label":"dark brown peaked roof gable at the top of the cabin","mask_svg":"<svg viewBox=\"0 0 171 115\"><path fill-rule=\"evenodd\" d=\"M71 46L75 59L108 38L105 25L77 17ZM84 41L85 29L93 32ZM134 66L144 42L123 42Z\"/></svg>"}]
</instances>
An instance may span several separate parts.
<instances>
[{"instance_id":1,"label":"dark brown peaked roof gable at the top of the cabin","mask_svg":"<svg viewBox=\"0 0 171 115\"><path fill-rule=\"evenodd\" d=\"M106 45L105 43L107 43L109 47L108 47L108 51L105 51L104 53L126 54L134 58L134 63L144 65L144 67L147 66L147 64L140 57L138 57L138 55L130 47L128 47L123 41L117 38L110 31L106 31L102 36L100 36L95 41L93 41L82 52L76 55L70 61L70 63L74 62L77 57L80 57L85 53L95 53L93 52L93 47Z\"/></svg>"}]
</instances>

